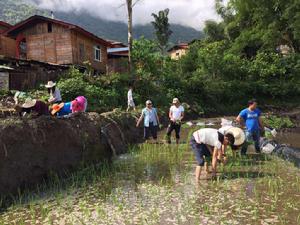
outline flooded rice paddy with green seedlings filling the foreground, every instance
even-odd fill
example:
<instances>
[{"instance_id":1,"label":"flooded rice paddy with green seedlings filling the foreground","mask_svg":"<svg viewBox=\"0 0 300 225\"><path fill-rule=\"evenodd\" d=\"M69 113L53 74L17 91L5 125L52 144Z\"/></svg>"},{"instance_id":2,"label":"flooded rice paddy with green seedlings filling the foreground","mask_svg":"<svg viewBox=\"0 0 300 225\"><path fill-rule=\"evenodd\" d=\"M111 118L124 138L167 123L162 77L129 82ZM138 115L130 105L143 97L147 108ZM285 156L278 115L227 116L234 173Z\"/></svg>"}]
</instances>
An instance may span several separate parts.
<instances>
[{"instance_id":1,"label":"flooded rice paddy with green seedlings filling the foreground","mask_svg":"<svg viewBox=\"0 0 300 225\"><path fill-rule=\"evenodd\" d=\"M133 146L112 164L20 193L0 224L300 224L299 169L273 156L229 155L216 180L196 184L187 144Z\"/></svg>"}]
</instances>

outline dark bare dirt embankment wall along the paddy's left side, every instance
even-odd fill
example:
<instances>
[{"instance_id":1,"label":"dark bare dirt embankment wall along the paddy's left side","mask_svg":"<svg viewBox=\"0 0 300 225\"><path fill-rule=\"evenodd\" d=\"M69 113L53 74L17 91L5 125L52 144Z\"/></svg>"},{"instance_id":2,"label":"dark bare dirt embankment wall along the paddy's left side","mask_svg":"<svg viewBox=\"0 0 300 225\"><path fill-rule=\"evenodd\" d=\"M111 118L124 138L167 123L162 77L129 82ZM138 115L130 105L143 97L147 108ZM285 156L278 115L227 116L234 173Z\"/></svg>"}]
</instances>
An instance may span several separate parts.
<instances>
[{"instance_id":1,"label":"dark bare dirt embankment wall along the paddy's left side","mask_svg":"<svg viewBox=\"0 0 300 225\"><path fill-rule=\"evenodd\" d=\"M82 163L110 160L142 140L126 113L77 114L0 121L0 194L30 187L50 172L63 174Z\"/></svg>"}]
</instances>

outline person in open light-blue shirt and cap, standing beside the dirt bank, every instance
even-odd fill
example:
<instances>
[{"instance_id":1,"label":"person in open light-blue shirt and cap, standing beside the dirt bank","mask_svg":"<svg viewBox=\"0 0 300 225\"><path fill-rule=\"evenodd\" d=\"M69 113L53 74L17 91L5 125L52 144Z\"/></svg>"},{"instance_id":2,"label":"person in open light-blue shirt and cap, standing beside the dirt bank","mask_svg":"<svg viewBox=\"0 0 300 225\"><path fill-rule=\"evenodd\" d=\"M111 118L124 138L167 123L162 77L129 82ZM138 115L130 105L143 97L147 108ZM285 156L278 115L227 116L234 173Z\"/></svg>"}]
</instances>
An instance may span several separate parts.
<instances>
[{"instance_id":1,"label":"person in open light-blue shirt and cap, standing beside the dirt bank","mask_svg":"<svg viewBox=\"0 0 300 225\"><path fill-rule=\"evenodd\" d=\"M146 107L142 110L142 114L136 123L136 127L139 127L140 123L144 120L144 138L148 140L150 136L154 140L157 140L157 131L159 126L159 118L157 109L153 107L150 100L146 101Z\"/></svg>"}]
</instances>

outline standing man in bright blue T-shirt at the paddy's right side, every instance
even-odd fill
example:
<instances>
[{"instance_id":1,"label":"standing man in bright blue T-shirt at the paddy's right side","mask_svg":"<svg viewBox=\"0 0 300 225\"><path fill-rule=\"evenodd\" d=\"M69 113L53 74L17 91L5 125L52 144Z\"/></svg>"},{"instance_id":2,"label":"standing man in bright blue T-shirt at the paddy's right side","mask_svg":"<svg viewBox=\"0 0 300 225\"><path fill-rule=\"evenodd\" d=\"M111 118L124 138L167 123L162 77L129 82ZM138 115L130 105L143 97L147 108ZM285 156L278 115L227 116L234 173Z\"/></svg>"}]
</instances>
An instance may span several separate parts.
<instances>
[{"instance_id":1,"label":"standing man in bright blue T-shirt at the paddy's right side","mask_svg":"<svg viewBox=\"0 0 300 225\"><path fill-rule=\"evenodd\" d=\"M254 141L255 151L259 153L260 131L263 129L263 123L261 111L257 108L257 101L255 99L248 102L248 108L240 112L236 121L242 126L245 125L246 141L242 146L241 155L246 155L249 142L251 141Z\"/></svg>"}]
</instances>

